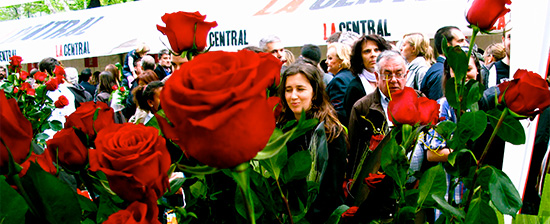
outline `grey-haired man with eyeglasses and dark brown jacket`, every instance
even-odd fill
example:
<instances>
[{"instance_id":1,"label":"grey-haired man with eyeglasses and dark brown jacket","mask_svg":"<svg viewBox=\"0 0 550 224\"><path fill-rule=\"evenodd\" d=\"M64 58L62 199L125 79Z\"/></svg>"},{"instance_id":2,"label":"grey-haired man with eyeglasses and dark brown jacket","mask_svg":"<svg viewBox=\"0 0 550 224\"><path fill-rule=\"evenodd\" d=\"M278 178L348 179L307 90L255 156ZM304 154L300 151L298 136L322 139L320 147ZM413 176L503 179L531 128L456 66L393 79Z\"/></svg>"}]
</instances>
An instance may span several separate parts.
<instances>
[{"instance_id":1,"label":"grey-haired man with eyeglasses and dark brown jacket","mask_svg":"<svg viewBox=\"0 0 550 224\"><path fill-rule=\"evenodd\" d=\"M377 88L374 92L359 99L353 105L349 121L350 150L348 156L348 178L353 178L357 166L367 146L374 150L373 143L380 142L389 132L392 122L387 118L391 94L405 87L407 63L403 56L394 50L382 52L376 59L375 76ZM367 161L368 158L365 160ZM384 178L381 185L372 189L369 198L361 205L357 214L366 219L391 219L395 214L395 200L392 194L392 181ZM362 181L362 180L356 180ZM386 185L388 185L386 187ZM374 192L376 191L376 192ZM376 198L371 198L376 197ZM375 202L376 203L373 203ZM370 202L368 204L367 202ZM356 216L357 216L356 214ZM363 219L362 219L363 220ZM363 220L365 221L365 220Z\"/></svg>"}]
</instances>

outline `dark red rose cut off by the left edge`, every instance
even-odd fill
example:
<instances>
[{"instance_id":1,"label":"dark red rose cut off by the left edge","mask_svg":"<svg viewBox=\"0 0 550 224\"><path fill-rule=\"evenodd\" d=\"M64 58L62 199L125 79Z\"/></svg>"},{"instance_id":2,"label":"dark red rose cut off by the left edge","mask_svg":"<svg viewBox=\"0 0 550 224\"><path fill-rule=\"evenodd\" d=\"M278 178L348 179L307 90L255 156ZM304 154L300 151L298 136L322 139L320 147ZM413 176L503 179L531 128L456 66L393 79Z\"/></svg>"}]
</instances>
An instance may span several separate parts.
<instances>
[{"instance_id":1,"label":"dark red rose cut off by the left edge","mask_svg":"<svg viewBox=\"0 0 550 224\"><path fill-rule=\"evenodd\" d=\"M4 90L0 90L0 174L7 173L8 149L16 163L23 162L30 153L32 125L21 113L15 99L7 99Z\"/></svg>"}]
</instances>

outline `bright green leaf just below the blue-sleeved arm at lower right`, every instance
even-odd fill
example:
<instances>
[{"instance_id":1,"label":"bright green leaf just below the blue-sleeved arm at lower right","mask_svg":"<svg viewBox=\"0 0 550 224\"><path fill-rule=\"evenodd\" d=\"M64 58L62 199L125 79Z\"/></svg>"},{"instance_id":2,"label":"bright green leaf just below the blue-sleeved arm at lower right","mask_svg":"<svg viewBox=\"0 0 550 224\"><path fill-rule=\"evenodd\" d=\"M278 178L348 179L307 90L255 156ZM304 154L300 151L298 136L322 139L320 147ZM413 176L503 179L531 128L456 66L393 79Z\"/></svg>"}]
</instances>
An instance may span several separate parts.
<instances>
[{"instance_id":1,"label":"bright green leaf just below the blue-sleeved arm at lower right","mask_svg":"<svg viewBox=\"0 0 550 224\"><path fill-rule=\"evenodd\" d=\"M438 197L444 197L447 192L447 175L442 165L437 165L428 169L420 178L418 189L418 207L428 207L435 204L429 195L435 194ZM427 206L423 206L426 204Z\"/></svg>"}]
</instances>

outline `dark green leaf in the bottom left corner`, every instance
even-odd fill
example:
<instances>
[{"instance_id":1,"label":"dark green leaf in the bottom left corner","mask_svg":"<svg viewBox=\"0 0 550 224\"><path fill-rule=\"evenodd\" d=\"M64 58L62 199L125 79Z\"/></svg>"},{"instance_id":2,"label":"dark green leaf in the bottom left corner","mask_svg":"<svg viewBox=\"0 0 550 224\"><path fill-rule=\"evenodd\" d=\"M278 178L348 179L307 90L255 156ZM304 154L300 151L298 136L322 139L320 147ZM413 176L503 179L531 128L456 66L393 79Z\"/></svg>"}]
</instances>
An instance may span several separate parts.
<instances>
[{"instance_id":1,"label":"dark green leaf in the bottom left corner","mask_svg":"<svg viewBox=\"0 0 550 224\"><path fill-rule=\"evenodd\" d=\"M17 191L10 187L5 177L0 177L0 223L25 223L29 206Z\"/></svg>"}]
</instances>

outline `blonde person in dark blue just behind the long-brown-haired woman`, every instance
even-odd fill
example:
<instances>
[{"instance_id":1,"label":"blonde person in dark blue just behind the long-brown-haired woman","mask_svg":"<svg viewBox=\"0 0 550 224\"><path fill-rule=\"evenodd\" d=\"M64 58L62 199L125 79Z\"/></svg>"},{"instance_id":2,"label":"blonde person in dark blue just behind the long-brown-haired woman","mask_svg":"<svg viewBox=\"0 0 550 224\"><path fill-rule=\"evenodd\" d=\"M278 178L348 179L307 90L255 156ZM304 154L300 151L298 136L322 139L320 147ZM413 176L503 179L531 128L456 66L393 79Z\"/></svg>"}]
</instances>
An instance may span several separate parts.
<instances>
[{"instance_id":1,"label":"blonde person in dark blue just behind the long-brown-haired woman","mask_svg":"<svg viewBox=\"0 0 550 224\"><path fill-rule=\"evenodd\" d=\"M338 113L338 119L341 123L347 124L346 110L344 109L344 98L346 90L353 80L354 76L349 70L351 48L342 43L332 43L327 47L327 67L328 72L334 75L334 78L327 84L327 94L334 109Z\"/></svg>"}]
</instances>

